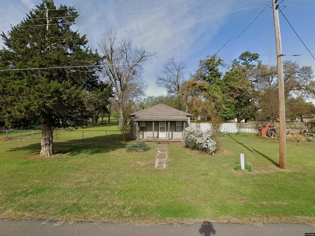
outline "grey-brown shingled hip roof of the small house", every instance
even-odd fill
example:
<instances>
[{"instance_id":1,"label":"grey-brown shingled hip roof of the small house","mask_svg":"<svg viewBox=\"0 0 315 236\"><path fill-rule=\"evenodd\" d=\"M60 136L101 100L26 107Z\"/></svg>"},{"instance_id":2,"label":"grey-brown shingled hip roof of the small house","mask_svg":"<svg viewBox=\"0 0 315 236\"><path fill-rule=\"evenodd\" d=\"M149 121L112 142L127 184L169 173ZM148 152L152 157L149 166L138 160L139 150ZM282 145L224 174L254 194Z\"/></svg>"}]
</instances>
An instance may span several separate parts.
<instances>
[{"instance_id":1,"label":"grey-brown shingled hip roof of the small house","mask_svg":"<svg viewBox=\"0 0 315 236\"><path fill-rule=\"evenodd\" d=\"M145 121L145 120L166 120L166 121L184 121L191 117L191 114L180 111L178 109L166 106L164 104L158 104L150 108L143 109L129 114L133 120Z\"/></svg>"}]
</instances>

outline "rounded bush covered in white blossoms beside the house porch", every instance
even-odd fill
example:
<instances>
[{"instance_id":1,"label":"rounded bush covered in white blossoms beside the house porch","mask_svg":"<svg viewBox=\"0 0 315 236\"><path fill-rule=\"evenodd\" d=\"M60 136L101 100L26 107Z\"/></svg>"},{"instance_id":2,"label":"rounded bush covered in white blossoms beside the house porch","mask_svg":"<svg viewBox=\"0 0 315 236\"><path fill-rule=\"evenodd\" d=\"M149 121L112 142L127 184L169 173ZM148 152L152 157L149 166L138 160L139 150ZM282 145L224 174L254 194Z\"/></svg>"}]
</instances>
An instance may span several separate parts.
<instances>
[{"instance_id":1,"label":"rounded bush covered in white blossoms beside the house porch","mask_svg":"<svg viewBox=\"0 0 315 236\"><path fill-rule=\"evenodd\" d=\"M206 151L212 155L217 150L217 144L212 139L212 132L210 130L202 131L192 125L184 130L182 142L187 148Z\"/></svg>"}]
</instances>

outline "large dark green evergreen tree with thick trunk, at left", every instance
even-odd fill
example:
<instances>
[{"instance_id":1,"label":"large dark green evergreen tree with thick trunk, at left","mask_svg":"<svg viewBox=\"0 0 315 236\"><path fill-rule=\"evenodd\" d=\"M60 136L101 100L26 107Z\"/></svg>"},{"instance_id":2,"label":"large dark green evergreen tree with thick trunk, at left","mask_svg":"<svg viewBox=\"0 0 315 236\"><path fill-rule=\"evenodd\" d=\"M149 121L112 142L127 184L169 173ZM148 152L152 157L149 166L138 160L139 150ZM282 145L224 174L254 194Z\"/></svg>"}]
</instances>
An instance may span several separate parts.
<instances>
[{"instance_id":1,"label":"large dark green evergreen tree with thick trunk, at left","mask_svg":"<svg viewBox=\"0 0 315 236\"><path fill-rule=\"evenodd\" d=\"M43 0L17 26L1 36L0 106L6 125L41 123L41 156L51 156L53 130L87 123L87 92L97 86L99 56L86 36L71 28L73 7Z\"/></svg>"}]
</instances>

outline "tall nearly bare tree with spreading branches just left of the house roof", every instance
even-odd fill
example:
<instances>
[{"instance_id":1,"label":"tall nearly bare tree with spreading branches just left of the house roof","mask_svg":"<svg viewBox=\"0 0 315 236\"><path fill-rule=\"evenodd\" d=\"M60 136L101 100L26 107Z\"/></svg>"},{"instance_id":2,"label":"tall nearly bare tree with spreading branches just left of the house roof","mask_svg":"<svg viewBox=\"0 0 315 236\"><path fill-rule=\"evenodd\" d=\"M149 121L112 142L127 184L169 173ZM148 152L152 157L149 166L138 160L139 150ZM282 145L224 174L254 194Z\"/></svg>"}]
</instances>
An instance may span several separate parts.
<instances>
[{"instance_id":1,"label":"tall nearly bare tree with spreading branches just left of the house roof","mask_svg":"<svg viewBox=\"0 0 315 236\"><path fill-rule=\"evenodd\" d=\"M102 36L98 46L104 56L102 73L113 85L113 106L119 112L119 128L123 131L132 103L145 95L142 63L154 54L144 47L134 48L131 39L119 38L112 30Z\"/></svg>"}]
</instances>

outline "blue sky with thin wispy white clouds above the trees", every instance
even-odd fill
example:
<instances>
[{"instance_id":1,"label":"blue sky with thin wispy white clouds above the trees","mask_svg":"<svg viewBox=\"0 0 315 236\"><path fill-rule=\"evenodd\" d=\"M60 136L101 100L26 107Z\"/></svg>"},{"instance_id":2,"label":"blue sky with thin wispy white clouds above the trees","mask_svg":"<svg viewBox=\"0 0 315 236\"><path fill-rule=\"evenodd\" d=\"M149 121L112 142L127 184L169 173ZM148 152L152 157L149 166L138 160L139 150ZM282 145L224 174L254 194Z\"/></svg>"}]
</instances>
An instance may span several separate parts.
<instances>
[{"instance_id":1,"label":"blue sky with thin wispy white clouds above the trees","mask_svg":"<svg viewBox=\"0 0 315 236\"><path fill-rule=\"evenodd\" d=\"M0 31L6 33L10 25L18 24L40 2L2 2ZM315 0L279 2L292 28L315 54ZM77 9L80 16L76 29L80 34L87 34L92 49L97 48L101 35L113 28L118 36L130 37L134 46L143 45L156 52L157 57L144 66L147 95L166 94L155 86L164 61L171 57L185 60L188 72L193 73L199 59L215 54L231 37L218 54L227 64L245 51L258 53L265 64L276 64L271 0L55 0L55 4ZM315 59L280 12L279 16L284 60L296 60L301 66L310 65L315 69Z\"/></svg>"}]
</instances>

